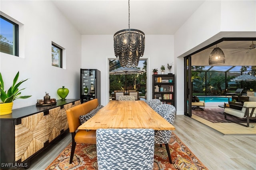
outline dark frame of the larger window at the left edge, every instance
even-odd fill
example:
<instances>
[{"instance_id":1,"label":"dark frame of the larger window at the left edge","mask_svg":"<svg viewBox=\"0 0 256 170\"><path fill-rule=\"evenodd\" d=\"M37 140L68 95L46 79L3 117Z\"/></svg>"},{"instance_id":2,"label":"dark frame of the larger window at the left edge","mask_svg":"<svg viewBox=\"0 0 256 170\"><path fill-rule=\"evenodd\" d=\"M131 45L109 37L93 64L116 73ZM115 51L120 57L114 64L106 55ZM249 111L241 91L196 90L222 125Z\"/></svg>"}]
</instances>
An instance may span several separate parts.
<instances>
[{"instance_id":1,"label":"dark frame of the larger window at the left edge","mask_svg":"<svg viewBox=\"0 0 256 170\"><path fill-rule=\"evenodd\" d=\"M2 15L0 15L0 18L9 22L10 24L12 24L14 26L14 34L13 34L14 42L12 43L14 54L10 54L10 55L19 57L19 24L13 22L12 20L9 20L8 18L6 18ZM2 52L2 53L5 53L5 52ZM7 54L9 54L9 53L7 53Z\"/></svg>"}]
</instances>

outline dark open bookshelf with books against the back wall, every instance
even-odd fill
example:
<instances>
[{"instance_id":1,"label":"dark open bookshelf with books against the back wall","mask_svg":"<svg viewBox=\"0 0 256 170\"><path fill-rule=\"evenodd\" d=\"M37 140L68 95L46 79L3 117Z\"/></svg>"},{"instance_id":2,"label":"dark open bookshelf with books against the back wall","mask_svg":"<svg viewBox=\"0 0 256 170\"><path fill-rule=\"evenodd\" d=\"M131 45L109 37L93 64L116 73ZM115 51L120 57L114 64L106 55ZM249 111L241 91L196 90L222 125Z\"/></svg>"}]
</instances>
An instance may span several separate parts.
<instances>
[{"instance_id":1,"label":"dark open bookshelf with books against the back wall","mask_svg":"<svg viewBox=\"0 0 256 170\"><path fill-rule=\"evenodd\" d=\"M160 99L162 104L175 106L174 74L153 74L152 82L152 99Z\"/></svg>"}]
</instances>

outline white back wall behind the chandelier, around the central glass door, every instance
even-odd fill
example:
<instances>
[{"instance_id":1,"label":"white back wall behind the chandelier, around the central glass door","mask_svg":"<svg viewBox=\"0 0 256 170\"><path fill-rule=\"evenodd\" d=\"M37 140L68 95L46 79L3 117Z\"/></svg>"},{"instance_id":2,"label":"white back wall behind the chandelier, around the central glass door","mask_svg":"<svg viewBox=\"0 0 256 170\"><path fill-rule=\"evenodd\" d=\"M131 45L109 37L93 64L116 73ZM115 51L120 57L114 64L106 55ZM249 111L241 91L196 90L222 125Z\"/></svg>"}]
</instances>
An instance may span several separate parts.
<instances>
[{"instance_id":1,"label":"white back wall behind the chandelier, around the central glass door","mask_svg":"<svg viewBox=\"0 0 256 170\"><path fill-rule=\"evenodd\" d=\"M148 59L148 89L152 89L152 69L160 71L161 65L165 65L168 73L167 63L174 61L174 41L172 35L145 35L145 40L145 52L141 58ZM82 35L82 68L101 71L102 105L109 101L108 58L116 58L113 35ZM148 98L151 97L152 92L148 90Z\"/></svg>"}]
</instances>

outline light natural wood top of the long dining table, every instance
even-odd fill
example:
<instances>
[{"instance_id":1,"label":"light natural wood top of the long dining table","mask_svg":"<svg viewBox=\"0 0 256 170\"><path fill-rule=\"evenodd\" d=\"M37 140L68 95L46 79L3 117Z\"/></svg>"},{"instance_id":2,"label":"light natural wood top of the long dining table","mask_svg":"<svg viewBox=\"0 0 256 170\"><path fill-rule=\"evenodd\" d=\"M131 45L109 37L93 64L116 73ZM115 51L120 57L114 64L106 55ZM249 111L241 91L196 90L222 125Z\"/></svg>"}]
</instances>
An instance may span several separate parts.
<instances>
[{"instance_id":1,"label":"light natural wood top of the long dining table","mask_svg":"<svg viewBox=\"0 0 256 170\"><path fill-rule=\"evenodd\" d=\"M152 128L175 130L144 101L110 101L78 129Z\"/></svg>"}]
</instances>

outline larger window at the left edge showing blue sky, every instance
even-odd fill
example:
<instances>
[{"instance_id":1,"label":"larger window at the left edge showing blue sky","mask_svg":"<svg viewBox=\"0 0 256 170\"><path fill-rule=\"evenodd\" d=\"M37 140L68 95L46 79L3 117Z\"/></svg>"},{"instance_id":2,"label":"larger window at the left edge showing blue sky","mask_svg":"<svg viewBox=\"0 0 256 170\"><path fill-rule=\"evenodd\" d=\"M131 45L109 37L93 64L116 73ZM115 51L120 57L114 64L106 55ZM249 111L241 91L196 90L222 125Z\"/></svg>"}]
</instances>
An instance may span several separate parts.
<instances>
[{"instance_id":1,"label":"larger window at the left edge showing blue sky","mask_svg":"<svg viewBox=\"0 0 256 170\"><path fill-rule=\"evenodd\" d=\"M18 56L19 25L0 16L0 52Z\"/></svg>"}]
</instances>

